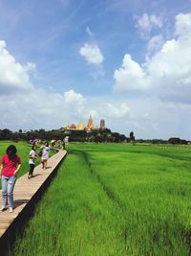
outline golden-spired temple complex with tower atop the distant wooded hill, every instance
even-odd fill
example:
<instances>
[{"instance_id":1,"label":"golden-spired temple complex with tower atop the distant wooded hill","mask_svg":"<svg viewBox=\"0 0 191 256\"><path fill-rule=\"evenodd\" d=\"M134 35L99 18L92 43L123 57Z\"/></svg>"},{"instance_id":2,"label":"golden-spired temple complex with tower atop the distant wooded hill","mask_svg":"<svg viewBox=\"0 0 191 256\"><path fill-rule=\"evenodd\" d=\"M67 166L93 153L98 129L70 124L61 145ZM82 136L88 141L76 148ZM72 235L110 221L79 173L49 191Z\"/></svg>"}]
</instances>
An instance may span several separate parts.
<instances>
[{"instance_id":1,"label":"golden-spired temple complex with tower atop the distant wooded hill","mask_svg":"<svg viewBox=\"0 0 191 256\"><path fill-rule=\"evenodd\" d=\"M104 119L101 119L101 120L100 120L100 128L101 128L101 129L104 129L104 128L105 128L105 120L104 120ZM83 125L82 122L80 122L80 123L78 124L78 126L75 126L74 124L72 124L72 125L67 125L67 126L65 127L65 129L69 129L69 130L71 130L71 129L76 129L76 130L87 130L87 131L90 131L90 130L95 130L95 129L98 129L98 128L96 128L96 126L94 125L92 115L90 115L90 117L89 117L89 119L88 119L88 124L87 124L86 127Z\"/></svg>"}]
</instances>

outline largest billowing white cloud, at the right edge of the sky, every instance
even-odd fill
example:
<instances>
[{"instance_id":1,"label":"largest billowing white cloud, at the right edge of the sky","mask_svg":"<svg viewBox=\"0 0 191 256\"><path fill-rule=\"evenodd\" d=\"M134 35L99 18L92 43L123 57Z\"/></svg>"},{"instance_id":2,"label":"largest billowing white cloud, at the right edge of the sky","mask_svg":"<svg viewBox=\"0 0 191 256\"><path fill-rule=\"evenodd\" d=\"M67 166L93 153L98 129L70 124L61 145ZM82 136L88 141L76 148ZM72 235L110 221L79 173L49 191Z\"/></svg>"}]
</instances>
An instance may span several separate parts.
<instances>
[{"instance_id":1,"label":"largest billowing white cloud, at the right edge of the sky","mask_svg":"<svg viewBox=\"0 0 191 256\"><path fill-rule=\"evenodd\" d=\"M122 66L114 74L116 91L146 89L160 99L191 103L191 14L179 14L176 20L179 37L164 42L145 63L140 65L130 55L124 56Z\"/></svg>"}]
</instances>

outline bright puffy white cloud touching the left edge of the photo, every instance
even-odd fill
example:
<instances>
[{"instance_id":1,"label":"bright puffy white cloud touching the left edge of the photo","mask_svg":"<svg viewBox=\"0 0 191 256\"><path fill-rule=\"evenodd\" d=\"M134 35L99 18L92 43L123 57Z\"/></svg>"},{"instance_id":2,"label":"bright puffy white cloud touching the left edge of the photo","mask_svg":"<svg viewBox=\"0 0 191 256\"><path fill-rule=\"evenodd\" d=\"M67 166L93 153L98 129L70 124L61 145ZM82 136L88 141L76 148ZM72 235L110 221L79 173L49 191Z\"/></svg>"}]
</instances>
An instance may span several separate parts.
<instances>
[{"instance_id":1,"label":"bright puffy white cloud touching the left edge of the photo","mask_svg":"<svg viewBox=\"0 0 191 256\"><path fill-rule=\"evenodd\" d=\"M28 63L27 66L16 62L15 58L6 49L6 42L0 41L0 93L10 94L12 92L21 93L31 91L33 86L29 77L29 70L34 64Z\"/></svg>"}]
</instances>

